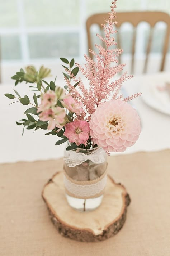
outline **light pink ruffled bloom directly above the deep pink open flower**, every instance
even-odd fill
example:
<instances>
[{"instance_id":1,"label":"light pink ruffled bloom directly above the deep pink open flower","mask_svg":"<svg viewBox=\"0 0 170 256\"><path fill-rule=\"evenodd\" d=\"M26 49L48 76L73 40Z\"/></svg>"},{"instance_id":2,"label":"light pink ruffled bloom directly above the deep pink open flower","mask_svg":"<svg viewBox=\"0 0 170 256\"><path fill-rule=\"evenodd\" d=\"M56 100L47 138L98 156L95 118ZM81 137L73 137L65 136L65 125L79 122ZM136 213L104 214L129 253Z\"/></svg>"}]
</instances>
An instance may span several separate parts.
<instances>
[{"instance_id":1,"label":"light pink ruffled bloom directly above the deep pink open flower","mask_svg":"<svg viewBox=\"0 0 170 256\"><path fill-rule=\"evenodd\" d=\"M76 113L77 115L82 113L82 107L84 106L81 102L76 102L72 96L69 96L66 99L63 99L63 106L67 108L72 113Z\"/></svg>"}]
</instances>

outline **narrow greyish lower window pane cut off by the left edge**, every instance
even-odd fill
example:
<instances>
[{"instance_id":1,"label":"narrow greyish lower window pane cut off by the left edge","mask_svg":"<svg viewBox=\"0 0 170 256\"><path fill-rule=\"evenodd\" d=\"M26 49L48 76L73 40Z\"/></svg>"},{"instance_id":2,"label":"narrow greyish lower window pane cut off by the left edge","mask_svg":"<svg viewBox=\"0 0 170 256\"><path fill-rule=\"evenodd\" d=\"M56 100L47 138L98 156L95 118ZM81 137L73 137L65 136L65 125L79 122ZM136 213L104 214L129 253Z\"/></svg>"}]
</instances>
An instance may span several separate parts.
<instances>
[{"instance_id":1,"label":"narrow greyish lower window pane cut off by the left edge","mask_svg":"<svg viewBox=\"0 0 170 256\"><path fill-rule=\"evenodd\" d=\"M1 36L1 54L3 60L21 59L20 40L18 35Z\"/></svg>"}]
</instances>

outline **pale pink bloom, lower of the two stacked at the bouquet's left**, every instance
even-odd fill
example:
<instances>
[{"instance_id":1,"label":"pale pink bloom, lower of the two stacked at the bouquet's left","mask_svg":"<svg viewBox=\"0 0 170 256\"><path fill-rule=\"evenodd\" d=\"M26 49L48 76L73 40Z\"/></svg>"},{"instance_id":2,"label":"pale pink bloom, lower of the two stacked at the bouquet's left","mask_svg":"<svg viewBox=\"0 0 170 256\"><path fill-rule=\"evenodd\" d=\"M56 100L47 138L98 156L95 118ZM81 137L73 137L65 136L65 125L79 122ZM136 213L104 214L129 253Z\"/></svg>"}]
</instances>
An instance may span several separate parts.
<instances>
[{"instance_id":1,"label":"pale pink bloom, lower of the two stacked at the bouquet's left","mask_svg":"<svg viewBox=\"0 0 170 256\"><path fill-rule=\"evenodd\" d=\"M42 121L49 121L48 130L54 129L56 126L62 128L65 122L66 112L61 107L49 108L42 111L39 115L39 119Z\"/></svg>"}]
</instances>

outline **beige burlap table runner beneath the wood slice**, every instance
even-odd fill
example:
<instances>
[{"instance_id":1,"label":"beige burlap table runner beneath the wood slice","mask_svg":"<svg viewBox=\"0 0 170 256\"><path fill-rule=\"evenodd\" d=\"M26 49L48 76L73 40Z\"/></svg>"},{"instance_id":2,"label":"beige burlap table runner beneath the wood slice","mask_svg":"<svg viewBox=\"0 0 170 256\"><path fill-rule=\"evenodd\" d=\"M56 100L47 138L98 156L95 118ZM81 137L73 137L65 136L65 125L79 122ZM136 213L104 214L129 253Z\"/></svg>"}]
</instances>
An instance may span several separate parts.
<instances>
[{"instance_id":1,"label":"beige burlap table runner beneath the wood slice","mask_svg":"<svg viewBox=\"0 0 170 256\"><path fill-rule=\"evenodd\" d=\"M41 191L62 160L0 165L0 255L169 256L169 159L170 150L108 157L109 174L132 202L123 229L97 243L63 238L48 217Z\"/></svg>"}]
</instances>

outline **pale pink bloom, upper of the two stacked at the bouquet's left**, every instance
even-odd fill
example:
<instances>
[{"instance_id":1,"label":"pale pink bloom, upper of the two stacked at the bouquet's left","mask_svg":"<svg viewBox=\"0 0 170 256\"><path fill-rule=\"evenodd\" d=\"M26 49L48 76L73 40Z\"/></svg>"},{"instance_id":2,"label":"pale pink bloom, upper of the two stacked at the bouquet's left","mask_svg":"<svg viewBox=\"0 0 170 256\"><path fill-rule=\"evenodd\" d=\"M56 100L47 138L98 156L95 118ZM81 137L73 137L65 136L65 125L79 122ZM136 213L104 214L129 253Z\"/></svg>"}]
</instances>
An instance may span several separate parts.
<instances>
[{"instance_id":1,"label":"pale pink bloom, upper of the two stacked at the bouquet's left","mask_svg":"<svg viewBox=\"0 0 170 256\"><path fill-rule=\"evenodd\" d=\"M37 109L37 113L47 110L51 106L54 106L57 102L57 96L54 91L47 91L41 95L41 104Z\"/></svg>"}]
</instances>

